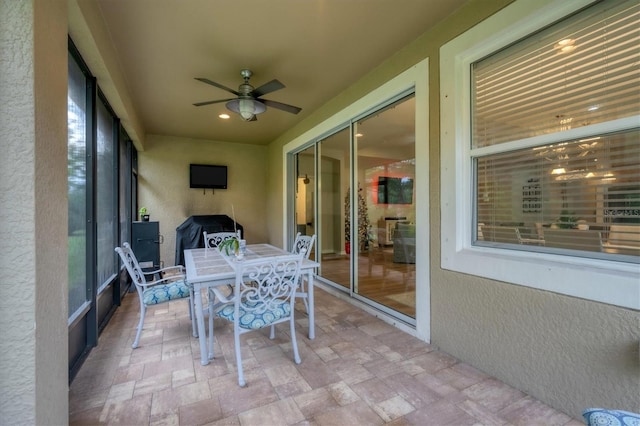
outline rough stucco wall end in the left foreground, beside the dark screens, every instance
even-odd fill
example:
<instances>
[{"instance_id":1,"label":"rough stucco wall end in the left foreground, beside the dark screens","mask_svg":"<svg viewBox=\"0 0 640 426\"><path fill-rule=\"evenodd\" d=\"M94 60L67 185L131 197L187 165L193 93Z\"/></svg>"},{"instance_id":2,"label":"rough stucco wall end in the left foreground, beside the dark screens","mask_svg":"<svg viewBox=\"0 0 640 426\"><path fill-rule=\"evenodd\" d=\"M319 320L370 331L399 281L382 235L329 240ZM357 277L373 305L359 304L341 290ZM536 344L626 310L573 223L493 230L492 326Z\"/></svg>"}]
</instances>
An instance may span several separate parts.
<instances>
[{"instance_id":1,"label":"rough stucco wall end in the left foreground, beside the dark screens","mask_svg":"<svg viewBox=\"0 0 640 426\"><path fill-rule=\"evenodd\" d=\"M66 13L0 0L0 423L68 421Z\"/></svg>"}]
</instances>

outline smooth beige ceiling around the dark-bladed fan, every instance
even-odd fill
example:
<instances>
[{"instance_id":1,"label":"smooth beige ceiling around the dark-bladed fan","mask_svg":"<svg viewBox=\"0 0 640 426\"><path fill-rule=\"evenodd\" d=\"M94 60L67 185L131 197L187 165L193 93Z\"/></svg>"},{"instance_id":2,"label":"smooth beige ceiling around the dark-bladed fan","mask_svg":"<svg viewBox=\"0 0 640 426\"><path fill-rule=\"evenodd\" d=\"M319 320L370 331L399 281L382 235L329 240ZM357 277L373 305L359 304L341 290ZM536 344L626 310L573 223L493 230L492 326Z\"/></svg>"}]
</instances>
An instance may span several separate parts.
<instances>
[{"instance_id":1,"label":"smooth beige ceiling around the dark-bladed fan","mask_svg":"<svg viewBox=\"0 0 640 426\"><path fill-rule=\"evenodd\" d=\"M340 94L466 0L94 0L147 134L266 144ZM240 70L264 96L302 108L268 108L258 121L218 114Z\"/></svg>"}]
</instances>

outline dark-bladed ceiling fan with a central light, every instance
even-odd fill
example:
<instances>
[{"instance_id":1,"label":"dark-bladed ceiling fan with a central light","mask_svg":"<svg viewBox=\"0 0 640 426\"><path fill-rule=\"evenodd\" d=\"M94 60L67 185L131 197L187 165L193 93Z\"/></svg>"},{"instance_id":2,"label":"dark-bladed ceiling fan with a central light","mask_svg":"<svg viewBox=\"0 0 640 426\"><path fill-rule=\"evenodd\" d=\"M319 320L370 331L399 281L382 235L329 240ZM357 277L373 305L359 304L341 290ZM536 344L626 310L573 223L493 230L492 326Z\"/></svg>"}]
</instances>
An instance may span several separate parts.
<instances>
[{"instance_id":1,"label":"dark-bladed ceiling fan with a central light","mask_svg":"<svg viewBox=\"0 0 640 426\"><path fill-rule=\"evenodd\" d=\"M197 102L193 105L195 106L203 106L216 104L220 102L226 102L227 109L240 114L243 120L245 121L256 121L256 115L262 114L266 111L267 107L276 108L282 111L290 112L292 114L297 114L302 111L302 108L298 108L293 105L283 104L282 102L270 101L268 99L261 99L262 96L275 92L276 90L284 89L285 85L280 83L278 80L271 80L268 83L263 84L258 88L254 88L251 84L249 84L249 79L253 75L251 70L241 70L240 75L244 78L244 83L242 83L238 90L233 90L224 86L220 83L216 83L215 81L211 81L207 78L196 77L196 80L201 81L203 83L210 84L212 86L218 87L222 90L226 90L229 93L233 93L237 96L237 98L230 99L218 99L215 101L206 101L206 102Z\"/></svg>"}]
</instances>

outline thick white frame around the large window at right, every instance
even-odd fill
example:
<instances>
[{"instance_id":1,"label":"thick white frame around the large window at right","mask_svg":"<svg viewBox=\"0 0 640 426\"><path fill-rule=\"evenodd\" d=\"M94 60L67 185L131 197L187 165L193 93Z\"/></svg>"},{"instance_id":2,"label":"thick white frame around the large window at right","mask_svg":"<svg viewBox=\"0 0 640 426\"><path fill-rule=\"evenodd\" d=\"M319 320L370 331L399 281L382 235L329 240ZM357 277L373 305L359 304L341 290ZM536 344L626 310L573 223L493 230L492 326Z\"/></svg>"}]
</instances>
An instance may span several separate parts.
<instances>
[{"instance_id":1,"label":"thick white frame around the large window at right","mask_svg":"<svg viewBox=\"0 0 640 426\"><path fill-rule=\"evenodd\" d=\"M471 64L591 4L518 0L440 49L441 266L443 269L640 309L640 265L570 255L473 246ZM640 117L586 126L566 138L637 126ZM633 124L636 123L636 124ZM597 133L596 132L596 133ZM530 138L524 146L551 141Z\"/></svg>"}]
</instances>

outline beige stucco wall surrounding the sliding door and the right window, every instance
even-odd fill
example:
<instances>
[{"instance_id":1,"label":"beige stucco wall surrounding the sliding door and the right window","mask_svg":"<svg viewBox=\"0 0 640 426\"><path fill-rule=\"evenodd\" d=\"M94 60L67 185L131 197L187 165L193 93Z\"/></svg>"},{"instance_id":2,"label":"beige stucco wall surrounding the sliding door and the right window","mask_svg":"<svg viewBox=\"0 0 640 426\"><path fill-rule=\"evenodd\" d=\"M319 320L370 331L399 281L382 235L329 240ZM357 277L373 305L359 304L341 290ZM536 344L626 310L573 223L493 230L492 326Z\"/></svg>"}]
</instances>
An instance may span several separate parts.
<instances>
[{"instance_id":1,"label":"beige stucco wall surrounding the sliding door and the right window","mask_svg":"<svg viewBox=\"0 0 640 426\"><path fill-rule=\"evenodd\" d=\"M575 418L593 406L639 412L637 311L440 268L439 49L509 3L470 1L272 143L269 237L279 241L283 235L283 146L429 58L430 221L423 225L431 234L430 256L425 259L430 276L424 280L430 282L431 343ZM420 217L417 222L422 224Z\"/></svg>"}]
</instances>

